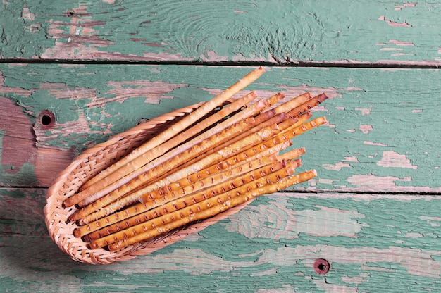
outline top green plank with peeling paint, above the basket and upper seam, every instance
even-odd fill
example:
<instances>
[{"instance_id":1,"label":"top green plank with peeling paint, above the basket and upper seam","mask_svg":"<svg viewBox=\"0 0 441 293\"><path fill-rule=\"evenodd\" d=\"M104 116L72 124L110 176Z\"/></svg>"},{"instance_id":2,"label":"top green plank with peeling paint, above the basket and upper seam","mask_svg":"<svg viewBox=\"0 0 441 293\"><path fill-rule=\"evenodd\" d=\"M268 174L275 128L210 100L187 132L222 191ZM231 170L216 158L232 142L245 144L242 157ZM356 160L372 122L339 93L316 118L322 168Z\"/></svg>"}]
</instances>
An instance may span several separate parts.
<instances>
[{"instance_id":1,"label":"top green plank with peeling paint, above the basket and upper seam","mask_svg":"<svg viewBox=\"0 0 441 293\"><path fill-rule=\"evenodd\" d=\"M4 1L1 58L440 64L441 1Z\"/></svg>"}]
</instances>

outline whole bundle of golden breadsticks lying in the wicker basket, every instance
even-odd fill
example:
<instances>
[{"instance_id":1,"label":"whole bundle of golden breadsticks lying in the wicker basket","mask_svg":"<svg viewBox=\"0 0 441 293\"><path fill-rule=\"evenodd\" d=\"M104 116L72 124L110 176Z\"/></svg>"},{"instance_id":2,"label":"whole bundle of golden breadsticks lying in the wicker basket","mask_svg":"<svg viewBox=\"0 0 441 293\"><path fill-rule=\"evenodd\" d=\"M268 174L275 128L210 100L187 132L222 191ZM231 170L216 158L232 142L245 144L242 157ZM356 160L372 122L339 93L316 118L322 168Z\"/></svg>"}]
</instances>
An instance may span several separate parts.
<instances>
[{"instance_id":1,"label":"whole bundle of golden breadsticks lying in the wicker basket","mask_svg":"<svg viewBox=\"0 0 441 293\"><path fill-rule=\"evenodd\" d=\"M75 237L116 251L315 177L315 170L295 172L303 148L286 149L326 123L310 119L310 110L328 97L232 99L264 71L251 71L85 182L63 202L77 208L69 217Z\"/></svg>"}]
</instances>

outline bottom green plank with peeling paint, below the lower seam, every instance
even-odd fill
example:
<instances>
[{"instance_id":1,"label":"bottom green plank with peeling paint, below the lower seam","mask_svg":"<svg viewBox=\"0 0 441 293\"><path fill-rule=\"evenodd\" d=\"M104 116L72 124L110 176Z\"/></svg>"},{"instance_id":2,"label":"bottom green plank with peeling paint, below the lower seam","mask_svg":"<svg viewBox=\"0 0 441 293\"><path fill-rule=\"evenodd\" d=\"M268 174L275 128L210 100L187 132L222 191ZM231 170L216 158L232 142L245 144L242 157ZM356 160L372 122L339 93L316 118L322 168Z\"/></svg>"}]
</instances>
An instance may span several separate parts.
<instances>
[{"instance_id":1,"label":"bottom green plank with peeling paint, below the lower seam","mask_svg":"<svg viewBox=\"0 0 441 293\"><path fill-rule=\"evenodd\" d=\"M71 261L46 234L46 189L0 189L6 292L423 292L440 286L440 198L279 193L130 261ZM313 270L330 262L325 275Z\"/></svg>"}]
</instances>

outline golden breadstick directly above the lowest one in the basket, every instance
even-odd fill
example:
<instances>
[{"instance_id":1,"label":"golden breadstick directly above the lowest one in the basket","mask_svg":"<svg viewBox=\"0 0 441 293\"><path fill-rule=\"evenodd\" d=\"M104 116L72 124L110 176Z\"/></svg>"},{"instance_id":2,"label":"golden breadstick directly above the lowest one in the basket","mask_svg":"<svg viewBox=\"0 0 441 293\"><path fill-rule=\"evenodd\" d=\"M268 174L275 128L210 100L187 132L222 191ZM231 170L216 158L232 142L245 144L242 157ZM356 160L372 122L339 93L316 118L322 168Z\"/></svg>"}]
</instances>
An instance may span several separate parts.
<instances>
[{"instance_id":1,"label":"golden breadstick directly above the lowest one in the basket","mask_svg":"<svg viewBox=\"0 0 441 293\"><path fill-rule=\"evenodd\" d=\"M282 168L274 173L265 175L256 180L252 180L251 182L241 185L240 187L235 187L233 189L230 189L230 192L232 194L249 193L252 189L259 188L263 185L268 185L271 182L276 182L280 180L280 178L287 177L292 174L294 174L294 168ZM155 218L147 220L144 223L140 223L138 225L128 227L128 229L115 232L111 235L107 235L99 239L94 239L92 242L89 243L89 247L91 247L92 249L104 247L108 244L131 237L132 235L137 235L139 233L142 233L143 230L147 230L149 229L149 227L161 227L161 225L173 222L175 219L182 218L183 216L190 216L195 211L203 211L206 208L216 205L216 203L218 203L219 201L220 202L227 201L229 194L230 194L229 192L222 192L221 194L213 195L212 197L204 199L200 202L197 201L195 201L194 203L184 202L182 204L183 206L177 209L176 211L166 213L163 216L156 216Z\"/></svg>"}]
</instances>

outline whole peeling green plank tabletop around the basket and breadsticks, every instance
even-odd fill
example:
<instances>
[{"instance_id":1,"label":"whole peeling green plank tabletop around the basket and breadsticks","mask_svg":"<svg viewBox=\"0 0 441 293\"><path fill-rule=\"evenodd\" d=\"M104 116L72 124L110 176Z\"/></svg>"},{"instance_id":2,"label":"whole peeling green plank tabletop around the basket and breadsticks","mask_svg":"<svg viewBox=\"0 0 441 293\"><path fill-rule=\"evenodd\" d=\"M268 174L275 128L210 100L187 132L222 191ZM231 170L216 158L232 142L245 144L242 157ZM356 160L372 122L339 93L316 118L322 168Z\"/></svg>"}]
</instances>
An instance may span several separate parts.
<instances>
[{"instance_id":1,"label":"whole peeling green plank tabletop around the basket and breadsticks","mask_svg":"<svg viewBox=\"0 0 441 293\"><path fill-rule=\"evenodd\" d=\"M298 3L296 3L298 2ZM440 290L441 1L3 1L0 291ZM110 266L76 263L43 208L87 146L247 90L327 93L316 179ZM330 263L319 274L314 264Z\"/></svg>"}]
</instances>

